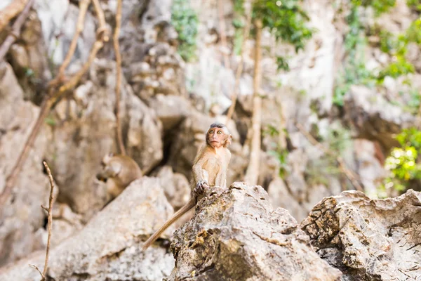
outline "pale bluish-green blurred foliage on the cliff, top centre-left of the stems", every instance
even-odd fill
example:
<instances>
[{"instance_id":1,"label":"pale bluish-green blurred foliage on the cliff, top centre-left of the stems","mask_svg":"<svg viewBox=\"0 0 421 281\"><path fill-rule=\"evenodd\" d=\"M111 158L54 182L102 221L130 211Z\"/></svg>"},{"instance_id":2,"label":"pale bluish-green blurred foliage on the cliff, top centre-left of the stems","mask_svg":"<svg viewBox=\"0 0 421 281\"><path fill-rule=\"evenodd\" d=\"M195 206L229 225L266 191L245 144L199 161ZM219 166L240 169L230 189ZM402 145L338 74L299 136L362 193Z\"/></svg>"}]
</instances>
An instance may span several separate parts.
<instances>
[{"instance_id":1,"label":"pale bluish-green blurred foliage on the cliff, top centre-left of the stems","mask_svg":"<svg viewBox=\"0 0 421 281\"><path fill-rule=\"evenodd\" d=\"M171 22L178 32L178 53L185 61L194 58L196 51L197 25L196 12L190 8L189 1L174 0Z\"/></svg>"}]
</instances>

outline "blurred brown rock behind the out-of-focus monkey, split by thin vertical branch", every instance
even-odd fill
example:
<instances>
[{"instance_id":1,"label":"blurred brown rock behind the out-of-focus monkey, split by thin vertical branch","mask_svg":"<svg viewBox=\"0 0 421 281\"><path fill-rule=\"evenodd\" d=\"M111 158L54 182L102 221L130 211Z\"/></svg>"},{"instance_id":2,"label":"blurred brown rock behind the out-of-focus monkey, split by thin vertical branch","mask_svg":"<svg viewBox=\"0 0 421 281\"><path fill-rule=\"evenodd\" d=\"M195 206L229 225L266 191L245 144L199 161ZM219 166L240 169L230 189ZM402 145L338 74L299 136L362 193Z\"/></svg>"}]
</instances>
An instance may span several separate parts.
<instances>
[{"instance_id":1,"label":"blurred brown rock behind the out-of-focus monkey, split by thin vertical branch","mask_svg":"<svg viewBox=\"0 0 421 281\"><path fill-rule=\"evenodd\" d=\"M105 204L105 187L95 175L102 157L116 152L115 64L96 60L89 77L91 81L74 92L76 102L62 100L55 107L54 145L48 155L55 181L62 186L60 201L86 219ZM124 81L122 84L123 141L128 155L145 173L162 159L161 123L131 87Z\"/></svg>"}]
</instances>

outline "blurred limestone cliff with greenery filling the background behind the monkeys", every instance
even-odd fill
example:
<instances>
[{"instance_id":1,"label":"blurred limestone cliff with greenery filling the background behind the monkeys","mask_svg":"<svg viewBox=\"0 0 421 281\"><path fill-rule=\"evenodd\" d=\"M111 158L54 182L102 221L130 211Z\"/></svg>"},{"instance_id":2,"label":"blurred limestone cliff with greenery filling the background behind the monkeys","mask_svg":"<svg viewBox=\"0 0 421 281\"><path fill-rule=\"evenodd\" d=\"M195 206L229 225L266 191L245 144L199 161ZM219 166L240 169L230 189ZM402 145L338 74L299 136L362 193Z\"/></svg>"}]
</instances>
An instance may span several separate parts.
<instances>
[{"instance_id":1,"label":"blurred limestone cliff with greenery filling the background behind the monkeys","mask_svg":"<svg viewBox=\"0 0 421 281\"><path fill-rule=\"evenodd\" d=\"M52 246L105 205L95 174L119 152L117 1L90 2L0 2L0 192L41 117L1 206L0 266L46 247L43 161L62 211ZM124 0L117 53L127 154L165 183L175 209L189 198L213 122L234 137L227 184L262 185L299 222L344 190L421 190L420 13L420 0Z\"/></svg>"}]
</instances>

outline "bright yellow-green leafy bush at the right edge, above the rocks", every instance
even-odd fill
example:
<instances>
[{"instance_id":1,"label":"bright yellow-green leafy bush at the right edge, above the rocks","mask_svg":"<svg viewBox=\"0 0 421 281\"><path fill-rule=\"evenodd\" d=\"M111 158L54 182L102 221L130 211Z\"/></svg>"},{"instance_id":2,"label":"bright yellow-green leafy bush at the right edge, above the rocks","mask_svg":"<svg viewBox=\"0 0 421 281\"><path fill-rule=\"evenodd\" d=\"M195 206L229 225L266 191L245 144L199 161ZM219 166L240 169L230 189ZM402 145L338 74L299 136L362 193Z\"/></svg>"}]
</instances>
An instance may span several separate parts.
<instances>
[{"instance_id":1,"label":"bright yellow-green leafy bush at the right edge, above the rocks","mask_svg":"<svg viewBox=\"0 0 421 281\"><path fill-rule=\"evenodd\" d=\"M421 131L415 128L404 129L396 136L401 148L393 148L385 162L389 176L382 188L406 190L411 180L421 179L421 165L418 155L421 152Z\"/></svg>"}]
</instances>

